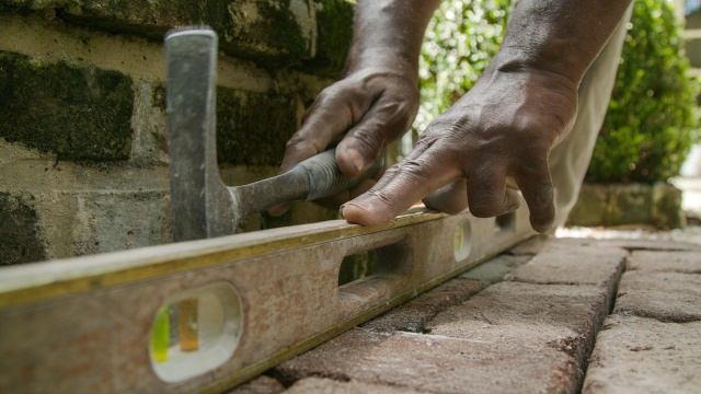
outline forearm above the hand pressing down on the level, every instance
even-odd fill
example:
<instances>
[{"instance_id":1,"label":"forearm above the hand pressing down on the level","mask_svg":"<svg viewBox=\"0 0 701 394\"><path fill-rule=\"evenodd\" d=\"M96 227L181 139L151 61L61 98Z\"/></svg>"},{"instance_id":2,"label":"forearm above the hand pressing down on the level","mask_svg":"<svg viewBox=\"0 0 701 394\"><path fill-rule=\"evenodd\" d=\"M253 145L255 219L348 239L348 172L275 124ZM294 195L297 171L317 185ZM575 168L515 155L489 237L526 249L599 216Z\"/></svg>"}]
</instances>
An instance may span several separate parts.
<instances>
[{"instance_id":1,"label":"forearm above the hand pressing down on the level","mask_svg":"<svg viewBox=\"0 0 701 394\"><path fill-rule=\"evenodd\" d=\"M630 0L520 0L495 67L555 72L578 85Z\"/></svg>"}]
</instances>

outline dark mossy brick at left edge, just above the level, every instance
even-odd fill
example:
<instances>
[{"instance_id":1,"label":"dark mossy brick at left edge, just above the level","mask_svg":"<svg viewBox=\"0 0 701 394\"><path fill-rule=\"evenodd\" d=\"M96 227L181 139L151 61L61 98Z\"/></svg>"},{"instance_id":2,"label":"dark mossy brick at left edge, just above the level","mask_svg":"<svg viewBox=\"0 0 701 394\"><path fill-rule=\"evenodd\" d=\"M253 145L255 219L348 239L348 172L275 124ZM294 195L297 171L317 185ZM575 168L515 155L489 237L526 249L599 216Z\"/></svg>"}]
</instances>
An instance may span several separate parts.
<instances>
[{"instance_id":1,"label":"dark mossy brick at left edge, just above the level","mask_svg":"<svg viewBox=\"0 0 701 394\"><path fill-rule=\"evenodd\" d=\"M0 265L46 259L37 220L36 211L21 198L0 193Z\"/></svg>"}]
</instances>

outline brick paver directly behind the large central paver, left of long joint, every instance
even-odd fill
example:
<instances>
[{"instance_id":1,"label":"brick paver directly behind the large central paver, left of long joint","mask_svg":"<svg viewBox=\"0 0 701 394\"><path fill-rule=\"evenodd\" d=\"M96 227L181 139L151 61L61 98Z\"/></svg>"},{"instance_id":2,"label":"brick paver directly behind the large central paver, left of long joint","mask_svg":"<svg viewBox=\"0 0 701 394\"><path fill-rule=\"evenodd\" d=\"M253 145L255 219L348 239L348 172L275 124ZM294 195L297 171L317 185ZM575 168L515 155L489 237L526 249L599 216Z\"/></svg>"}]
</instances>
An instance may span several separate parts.
<instances>
[{"instance_id":1,"label":"brick paver directly behind the large central paver, left of long joint","mask_svg":"<svg viewBox=\"0 0 701 394\"><path fill-rule=\"evenodd\" d=\"M516 268L508 279L542 285L612 287L621 277L625 256L625 250L605 246L550 248Z\"/></svg>"}]
</instances>

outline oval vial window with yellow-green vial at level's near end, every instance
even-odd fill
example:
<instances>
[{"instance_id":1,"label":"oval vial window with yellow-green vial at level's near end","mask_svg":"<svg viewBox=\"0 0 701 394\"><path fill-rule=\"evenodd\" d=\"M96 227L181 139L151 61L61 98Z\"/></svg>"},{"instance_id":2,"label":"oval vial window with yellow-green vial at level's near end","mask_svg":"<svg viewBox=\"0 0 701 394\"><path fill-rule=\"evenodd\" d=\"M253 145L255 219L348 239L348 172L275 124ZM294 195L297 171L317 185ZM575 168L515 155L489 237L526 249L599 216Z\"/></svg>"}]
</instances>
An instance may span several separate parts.
<instances>
[{"instance_id":1,"label":"oval vial window with yellow-green vial at level's near end","mask_svg":"<svg viewBox=\"0 0 701 394\"><path fill-rule=\"evenodd\" d=\"M168 383L206 373L233 355L242 332L243 305L231 285L184 291L156 312L149 340L151 366Z\"/></svg>"}]
</instances>

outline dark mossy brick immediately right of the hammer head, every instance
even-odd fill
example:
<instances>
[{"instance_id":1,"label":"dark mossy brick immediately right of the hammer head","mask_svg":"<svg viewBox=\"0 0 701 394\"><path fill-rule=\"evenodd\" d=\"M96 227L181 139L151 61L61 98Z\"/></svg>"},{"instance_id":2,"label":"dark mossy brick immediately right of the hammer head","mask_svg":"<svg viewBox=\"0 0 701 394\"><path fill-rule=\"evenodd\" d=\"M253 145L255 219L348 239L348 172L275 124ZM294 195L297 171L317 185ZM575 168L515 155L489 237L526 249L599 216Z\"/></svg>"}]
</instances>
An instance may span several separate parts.
<instances>
[{"instance_id":1,"label":"dark mossy brick immediately right of the hammer head","mask_svg":"<svg viewBox=\"0 0 701 394\"><path fill-rule=\"evenodd\" d=\"M297 128L291 100L217 89L217 158L234 165L279 165Z\"/></svg>"}]
</instances>

